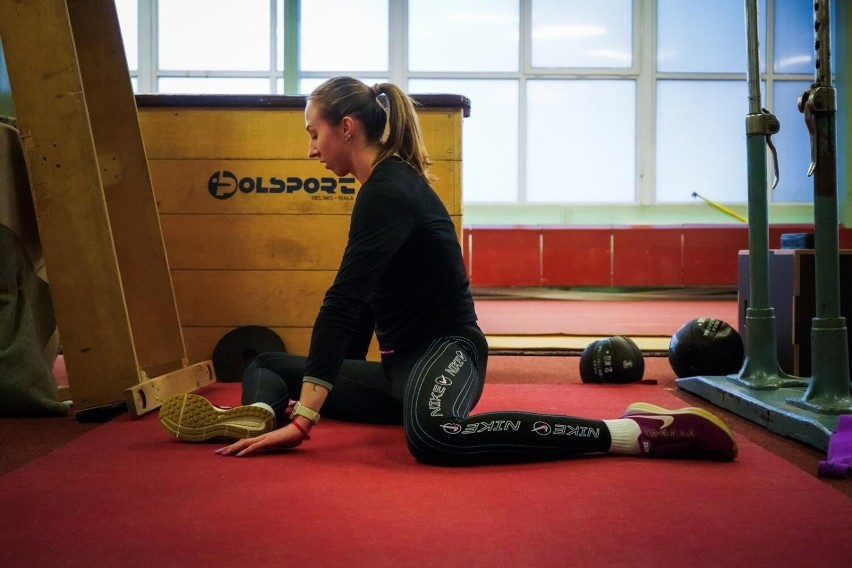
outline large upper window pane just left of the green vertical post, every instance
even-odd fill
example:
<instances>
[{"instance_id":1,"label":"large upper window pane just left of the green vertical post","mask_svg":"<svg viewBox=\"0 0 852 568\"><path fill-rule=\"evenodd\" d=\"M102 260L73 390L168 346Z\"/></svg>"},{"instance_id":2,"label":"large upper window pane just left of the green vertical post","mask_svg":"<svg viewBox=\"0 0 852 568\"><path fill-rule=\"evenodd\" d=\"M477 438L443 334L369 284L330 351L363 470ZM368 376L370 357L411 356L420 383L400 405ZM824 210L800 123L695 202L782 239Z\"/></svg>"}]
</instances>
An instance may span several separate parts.
<instances>
[{"instance_id":1,"label":"large upper window pane just left of the green vertical post","mask_svg":"<svg viewBox=\"0 0 852 568\"><path fill-rule=\"evenodd\" d=\"M160 69L269 69L269 0L168 0L158 6Z\"/></svg>"}]
</instances>

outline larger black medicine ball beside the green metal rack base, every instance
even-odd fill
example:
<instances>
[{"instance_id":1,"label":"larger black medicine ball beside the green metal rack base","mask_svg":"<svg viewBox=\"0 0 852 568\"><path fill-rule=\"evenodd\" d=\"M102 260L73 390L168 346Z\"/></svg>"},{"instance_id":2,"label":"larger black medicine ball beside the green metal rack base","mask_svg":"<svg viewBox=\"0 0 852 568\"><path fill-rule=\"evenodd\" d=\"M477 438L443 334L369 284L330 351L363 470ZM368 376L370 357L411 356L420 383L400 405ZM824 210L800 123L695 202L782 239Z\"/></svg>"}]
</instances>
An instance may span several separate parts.
<instances>
[{"instance_id":1,"label":"larger black medicine ball beside the green metal rack base","mask_svg":"<svg viewBox=\"0 0 852 568\"><path fill-rule=\"evenodd\" d=\"M713 318L686 322L669 343L669 363L680 378L730 375L740 370L744 357L737 330Z\"/></svg>"}]
</instances>

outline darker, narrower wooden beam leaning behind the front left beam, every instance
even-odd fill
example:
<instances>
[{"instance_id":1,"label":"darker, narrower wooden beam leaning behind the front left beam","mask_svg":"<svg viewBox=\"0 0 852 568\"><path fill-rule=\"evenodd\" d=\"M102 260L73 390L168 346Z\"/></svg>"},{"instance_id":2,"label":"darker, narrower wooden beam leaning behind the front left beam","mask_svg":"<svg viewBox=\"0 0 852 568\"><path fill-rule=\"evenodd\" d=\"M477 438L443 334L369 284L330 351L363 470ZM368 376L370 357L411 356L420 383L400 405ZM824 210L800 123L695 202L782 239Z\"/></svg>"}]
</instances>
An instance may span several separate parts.
<instances>
[{"instance_id":1,"label":"darker, narrower wooden beam leaning behind the front left beam","mask_svg":"<svg viewBox=\"0 0 852 568\"><path fill-rule=\"evenodd\" d=\"M186 364L136 100L113 0L68 0L103 192L139 364Z\"/></svg>"}]
</instances>

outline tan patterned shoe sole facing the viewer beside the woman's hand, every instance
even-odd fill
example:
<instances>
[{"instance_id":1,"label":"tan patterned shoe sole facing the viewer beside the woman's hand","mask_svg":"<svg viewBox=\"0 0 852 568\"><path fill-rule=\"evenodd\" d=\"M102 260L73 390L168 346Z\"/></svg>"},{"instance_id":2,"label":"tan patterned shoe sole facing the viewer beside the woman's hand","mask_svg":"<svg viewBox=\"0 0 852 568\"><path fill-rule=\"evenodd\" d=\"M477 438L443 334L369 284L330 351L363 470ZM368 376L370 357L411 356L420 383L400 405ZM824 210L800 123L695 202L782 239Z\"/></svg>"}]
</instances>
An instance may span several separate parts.
<instances>
[{"instance_id":1,"label":"tan patterned shoe sole facing the viewer beside the woman's hand","mask_svg":"<svg viewBox=\"0 0 852 568\"><path fill-rule=\"evenodd\" d=\"M196 394L173 396L160 408L160 424L183 442L251 438L272 430L274 420L265 408L216 408Z\"/></svg>"}]
</instances>

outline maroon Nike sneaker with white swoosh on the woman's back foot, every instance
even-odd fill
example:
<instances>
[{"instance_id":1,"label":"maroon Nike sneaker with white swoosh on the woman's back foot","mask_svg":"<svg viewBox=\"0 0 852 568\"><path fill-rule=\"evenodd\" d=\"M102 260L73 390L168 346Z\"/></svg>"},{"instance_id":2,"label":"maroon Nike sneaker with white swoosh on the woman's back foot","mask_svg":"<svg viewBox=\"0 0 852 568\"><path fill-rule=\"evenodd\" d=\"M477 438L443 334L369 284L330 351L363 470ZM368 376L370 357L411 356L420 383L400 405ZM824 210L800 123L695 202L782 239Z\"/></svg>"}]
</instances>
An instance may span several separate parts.
<instances>
[{"instance_id":1,"label":"maroon Nike sneaker with white swoosh on the woman's back foot","mask_svg":"<svg viewBox=\"0 0 852 568\"><path fill-rule=\"evenodd\" d=\"M637 402L624 411L642 429L639 451L652 458L695 458L731 461L737 443L722 420L696 407L668 410Z\"/></svg>"}]
</instances>

